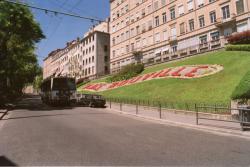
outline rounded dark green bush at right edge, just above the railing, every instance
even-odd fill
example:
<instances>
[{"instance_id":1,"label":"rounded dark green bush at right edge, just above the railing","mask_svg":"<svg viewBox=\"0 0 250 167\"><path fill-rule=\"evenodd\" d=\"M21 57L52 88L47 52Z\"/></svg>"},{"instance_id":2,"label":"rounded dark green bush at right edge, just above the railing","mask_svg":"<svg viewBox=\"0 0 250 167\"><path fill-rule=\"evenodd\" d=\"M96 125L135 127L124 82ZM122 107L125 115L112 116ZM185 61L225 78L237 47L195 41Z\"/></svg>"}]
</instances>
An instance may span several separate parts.
<instances>
[{"instance_id":1,"label":"rounded dark green bush at right edge, just above the railing","mask_svg":"<svg viewBox=\"0 0 250 167\"><path fill-rule=\"evenodd\" d=\"M240 81L239 85L233 91L231 98L233 100L236 100L236 99L242 99L242 100L250 99L250 71L248 71L244 75L244 77Z\"/></svg>"}]
</instances>

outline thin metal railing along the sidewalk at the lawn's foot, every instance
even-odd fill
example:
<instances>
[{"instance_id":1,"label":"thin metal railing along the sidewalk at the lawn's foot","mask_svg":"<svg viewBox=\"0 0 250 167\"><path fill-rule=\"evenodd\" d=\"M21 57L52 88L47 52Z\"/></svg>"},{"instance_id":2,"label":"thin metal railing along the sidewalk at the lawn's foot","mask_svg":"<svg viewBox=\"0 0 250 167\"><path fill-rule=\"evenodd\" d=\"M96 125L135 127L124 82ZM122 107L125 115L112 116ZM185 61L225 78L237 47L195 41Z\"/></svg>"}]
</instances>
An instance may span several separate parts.
<instances>
[{"instance_id":1,"label":"thin metal railing along the sidewalk at the lawn's foot","mask_svg":"<svg viewBox=\"0 0 250 167\"><path fill-rule=\"evenodd\" d=\"M200 125L200 120L208 121L218 121L218 122L230 122L237 123L241 125L241 130L245 130L250 127L250 122L245 121L245 115L243 112L239 112L239 119L233 119L231 111L247 111L250 112L250 109L245 108L231 108L231 104L199 104L199 103L180 103L180 102L163 102L163 101L150 101L150 100L134 100L134 99L125 99L125 98L106 98L109 103L109 108L112 108L113 103L115 103L117 109L120 111L125 111L124 106L132 106L132 110L135 109L135 114L143 113L143 111L148 107L151 109L156 109L158 112L157 118L164 119L165 116L163 110L174 110L182 112L191 112L194 116L194 123L198 126ZM117 105L118 104L118 105ZM143 111L139 111L140 107L144 107ZM134 108L134 109L133 109ZM130 108L131 110L131 108ZM134 111L133 111L134 112ZM250 114L250 113L249 113ZM223 119L225 118L225 119ZM250 121L250 120L249 120ZM247 126L246 126L247 125Z\"/></svg>"}]
</instances>

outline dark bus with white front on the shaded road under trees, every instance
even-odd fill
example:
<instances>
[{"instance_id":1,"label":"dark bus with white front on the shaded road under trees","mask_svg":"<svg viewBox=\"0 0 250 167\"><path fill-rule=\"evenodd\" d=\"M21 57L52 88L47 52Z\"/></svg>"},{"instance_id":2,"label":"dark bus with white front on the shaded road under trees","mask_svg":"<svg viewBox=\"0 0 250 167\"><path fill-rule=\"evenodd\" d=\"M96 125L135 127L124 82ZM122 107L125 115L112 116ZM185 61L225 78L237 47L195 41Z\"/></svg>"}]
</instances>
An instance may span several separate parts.
<instances>
[{"instance_id":1,"label":"dark bus with white front on the shaded road under trees","mask_svg":"<svg viewBox=\"0 0 250 167\"><path fill-rule=\"evenodd\" d=\"M41 85L42 102L48 105L76 102L76 82L74 78L54 77L43 81Z\"/></svg>"}]
</instances>

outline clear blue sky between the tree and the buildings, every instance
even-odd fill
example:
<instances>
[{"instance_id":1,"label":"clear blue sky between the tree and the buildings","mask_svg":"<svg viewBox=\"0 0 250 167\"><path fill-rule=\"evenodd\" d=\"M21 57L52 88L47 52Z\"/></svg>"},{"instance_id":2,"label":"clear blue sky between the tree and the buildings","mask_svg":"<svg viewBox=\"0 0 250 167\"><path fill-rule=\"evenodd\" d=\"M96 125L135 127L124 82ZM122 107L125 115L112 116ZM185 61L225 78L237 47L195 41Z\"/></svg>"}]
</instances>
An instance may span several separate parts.
<instances>
[{"instance_id":1,"label":"clear blue sky between the tree and the buildings","mask_svg":"<svg viewBox=\"0 0 250 167\"><path fill-rule=\"evenodd\" d=\"M33 6L77 14L80 16L94 17L105 20L109 17L109 0L22 0ZM40 24L46 39L37 44L36 54L39 64L43 59L58 48L64 48L66 43L82 38L97 22L92 23L74 17L55 15L32 9L35 20Z\"/></svg>"}]
</instances>

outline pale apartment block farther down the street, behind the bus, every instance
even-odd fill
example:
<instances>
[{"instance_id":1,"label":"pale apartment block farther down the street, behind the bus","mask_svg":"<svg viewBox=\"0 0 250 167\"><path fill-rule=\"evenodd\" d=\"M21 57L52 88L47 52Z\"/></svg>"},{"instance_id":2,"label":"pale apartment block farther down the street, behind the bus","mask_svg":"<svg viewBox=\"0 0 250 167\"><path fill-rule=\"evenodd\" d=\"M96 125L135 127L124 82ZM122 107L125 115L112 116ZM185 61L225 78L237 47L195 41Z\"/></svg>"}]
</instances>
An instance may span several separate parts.
<instances>
[{"instance_id":1,"label":"pale apartment block farther down the street, behind the bus","mask_svg":"<svg viewBox=\"0 0 250 167\"><path fill-rule=\"evenodd\" d=\"M89 29L82 39L67 43L63 49L51 52L44 59L44 79L69 76L94 79L110 73L109 20Z\"/></svg>"}]
</instances>

